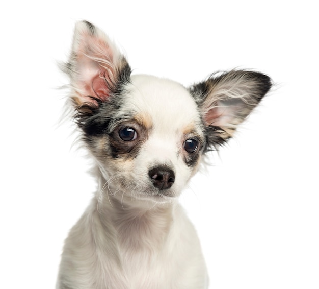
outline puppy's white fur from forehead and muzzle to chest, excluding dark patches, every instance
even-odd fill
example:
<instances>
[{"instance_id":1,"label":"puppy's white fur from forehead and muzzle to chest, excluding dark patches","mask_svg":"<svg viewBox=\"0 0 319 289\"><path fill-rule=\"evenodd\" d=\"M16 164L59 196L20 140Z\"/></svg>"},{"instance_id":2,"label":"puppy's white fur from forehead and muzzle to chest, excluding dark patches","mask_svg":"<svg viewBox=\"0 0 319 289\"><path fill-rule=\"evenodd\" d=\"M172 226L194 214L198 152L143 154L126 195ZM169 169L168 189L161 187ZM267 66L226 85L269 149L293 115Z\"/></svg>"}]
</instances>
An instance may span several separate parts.
<instances>
[{"instance_id":1,"label":"puppy's white fur from forehead and muzzle to chest, excluding dark patches","mask_svg":"<svg viewBox=\"0 0 319 289\"><path fill-rule=\"evenodd\" d=\"M58 288L207 288L196 231L176 199L194 174L177 151L182 130L199 122L195 101L180 84L150 76L132 77L128 89L129 106L121 113L147 111L151 135L134 161L107 165L96 159L97 195L70 231L62 256L60 272L74 281L59 281ZM187 113L178 115L181 105ZM144 194L153 163L174 167L174 198Z\"/></svg>"}]
</instances>

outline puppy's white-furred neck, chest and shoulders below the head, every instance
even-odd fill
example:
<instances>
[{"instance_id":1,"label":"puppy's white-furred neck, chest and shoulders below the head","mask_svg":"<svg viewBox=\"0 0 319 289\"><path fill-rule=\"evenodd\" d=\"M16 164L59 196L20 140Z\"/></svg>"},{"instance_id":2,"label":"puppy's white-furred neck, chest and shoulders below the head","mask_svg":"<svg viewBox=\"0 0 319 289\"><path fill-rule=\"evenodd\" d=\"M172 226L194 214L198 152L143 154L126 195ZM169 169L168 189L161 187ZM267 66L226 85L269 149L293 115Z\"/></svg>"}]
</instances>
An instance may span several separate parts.
<instances>
[{"instance_id":1,"label":"puppy's white-furred neck, chest and shoulders below the head","mask_svg":"<svg viewBox=\"0 0 319 289\"><path fill-rule=\"evenodd\" d=\"M60 270L72 283L60 288L207 288L199 240L177 204L143 212L93 200L64 250Z\"/></svg>"}]
</instances>

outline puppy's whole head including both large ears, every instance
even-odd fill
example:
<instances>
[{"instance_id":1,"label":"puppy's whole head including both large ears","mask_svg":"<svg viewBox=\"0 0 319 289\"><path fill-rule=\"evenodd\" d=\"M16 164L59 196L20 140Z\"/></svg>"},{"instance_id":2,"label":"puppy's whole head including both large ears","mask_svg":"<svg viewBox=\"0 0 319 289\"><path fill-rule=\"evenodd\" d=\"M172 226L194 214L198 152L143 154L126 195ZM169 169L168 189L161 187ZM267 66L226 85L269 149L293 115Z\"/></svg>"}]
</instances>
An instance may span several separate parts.
<instances>
[{"instance_id":1,"label":"puppy's whole head including both large ears","mask_svg":"<svg viewBox=\"0 0 319 289\"><path fill-rule=\"evenodd\" d=\"M159 203L180 194L203 153L225 143L271 87L268 76L245 70L190 88L131 75L112 41L85 21L77 23L65 71L107 194Z\"/></svg>"}]
</instances>

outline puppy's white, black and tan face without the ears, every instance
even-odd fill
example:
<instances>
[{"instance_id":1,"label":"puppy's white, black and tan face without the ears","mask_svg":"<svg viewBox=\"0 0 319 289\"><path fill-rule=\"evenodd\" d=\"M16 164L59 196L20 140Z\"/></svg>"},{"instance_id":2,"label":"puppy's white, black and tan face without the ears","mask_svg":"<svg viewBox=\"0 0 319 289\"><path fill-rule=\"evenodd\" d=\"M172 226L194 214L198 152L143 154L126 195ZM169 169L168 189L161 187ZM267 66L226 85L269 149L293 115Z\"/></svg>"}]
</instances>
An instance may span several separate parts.
<instances>
[{"instance_id":1,"label":"puppy's white, black and tan face without the ears","mask_svg":"<svg viewBox=\"0 0 319 289\"><path fill-rule=\"evenodd\" d=\"M169 201L206 144L196 102L180 84L151 76L132 76L121 90L86 120L85 140L110 191Z\"/></svg>"}]
</instances>

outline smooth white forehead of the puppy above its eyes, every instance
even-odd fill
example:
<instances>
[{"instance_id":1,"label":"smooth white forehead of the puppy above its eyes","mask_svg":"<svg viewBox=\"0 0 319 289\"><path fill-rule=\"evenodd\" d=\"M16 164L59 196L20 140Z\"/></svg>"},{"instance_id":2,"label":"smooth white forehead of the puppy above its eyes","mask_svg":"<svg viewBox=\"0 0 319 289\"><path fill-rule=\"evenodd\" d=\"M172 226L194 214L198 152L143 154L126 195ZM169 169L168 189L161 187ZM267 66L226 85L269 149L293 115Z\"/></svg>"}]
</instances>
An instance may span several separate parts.
<instances>
[{"instance_id":1,"label":"smooth white forehead of the puppy above its eyes","mask_svg":"<svg viewBox=\"0 0 319 289\"><path fill-rule=\"evenodd\" d=\"M136 114L148 124L195 130L201 124L195 100L181 84L153 76L132 76L124 97L123 114ZM127 104L127 105L125 105Z\"/></svg>"}]
</instances>

